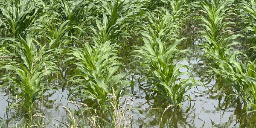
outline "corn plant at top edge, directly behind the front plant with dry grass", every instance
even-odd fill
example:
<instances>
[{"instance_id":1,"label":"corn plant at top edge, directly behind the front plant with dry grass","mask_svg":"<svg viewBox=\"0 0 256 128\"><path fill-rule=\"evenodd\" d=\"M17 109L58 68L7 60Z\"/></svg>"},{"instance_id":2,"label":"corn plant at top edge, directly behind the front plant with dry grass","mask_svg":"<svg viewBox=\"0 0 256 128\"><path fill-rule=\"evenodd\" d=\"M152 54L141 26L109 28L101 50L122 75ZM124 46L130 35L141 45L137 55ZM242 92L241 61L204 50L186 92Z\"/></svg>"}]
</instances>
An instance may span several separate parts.
<instances>
[{"instance_id":1,"label":"corn plant at top edge, directly behind the front plant with dry grass","mask_svg":"<svg viewBox=\"0 0 256 128\"><path fill-rule=\"evenodd\" d=\"M102 12L102 21L96 20L97 28L90 27L94 36L104 43L108 40L117 40L120 31L124 28L125 19L133 14L137 0L100 0L97 6Z\"/></svg>"}]
</instances>

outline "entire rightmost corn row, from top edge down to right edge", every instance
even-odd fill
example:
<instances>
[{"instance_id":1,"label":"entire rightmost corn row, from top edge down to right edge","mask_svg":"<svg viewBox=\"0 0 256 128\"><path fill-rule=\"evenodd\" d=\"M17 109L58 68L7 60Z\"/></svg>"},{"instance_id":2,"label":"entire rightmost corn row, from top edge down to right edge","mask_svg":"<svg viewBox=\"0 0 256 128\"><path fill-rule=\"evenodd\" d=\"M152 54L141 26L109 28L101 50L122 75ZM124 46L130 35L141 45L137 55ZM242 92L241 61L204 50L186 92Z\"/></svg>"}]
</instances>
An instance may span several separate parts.
<instances>
[{"instance_id":1,"label":"entire rightmost corn row, from top edge down to right edge","mask_svg":"<svg viewBox=\"0 0 256 128\"><path fill-rule=\"evenodd\" d=\"M255 73L254 61L248 61L247 64L241 64L238 59L238 53L247 55L244 52L233 49L233 45L240 44L232 42L234 39L242 35L234 35L232 31L225 30L230 23L227 17L229 6L232 0L204 0L201 2L202 12L207 14L207 18L201 17L205 24L202 37L206 39L204 44L200 44L204 48L204 57L212 61L211 71L221 76L220 78L227 86L233 87L233 94L240 97L245 104L250 103L255 108ZM227 13L225 13L227 12ZM227 34L229 33L229 34ZM249 105L249 106L250 106Z\"/></svg>"}]
</instances>

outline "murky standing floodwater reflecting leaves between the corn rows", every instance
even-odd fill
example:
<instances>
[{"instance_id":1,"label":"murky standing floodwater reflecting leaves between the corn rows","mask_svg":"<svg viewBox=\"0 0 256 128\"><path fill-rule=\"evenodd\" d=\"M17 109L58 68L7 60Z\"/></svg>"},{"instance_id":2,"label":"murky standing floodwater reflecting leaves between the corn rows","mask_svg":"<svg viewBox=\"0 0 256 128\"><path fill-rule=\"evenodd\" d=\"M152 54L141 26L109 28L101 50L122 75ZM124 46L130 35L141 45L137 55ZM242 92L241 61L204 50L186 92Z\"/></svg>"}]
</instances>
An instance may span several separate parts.
<instances>
[{"instance_id":1,"label":"murky standing floodwater reflecting leaves between the corn rows","mask_svg":"<svg viewBox=\"0 0 256 128\"><path fill-rule=\"evenodd\" d=\"M186 95L190 96L192 101L185 99L182 103L183 108L169 108L163 113L164 105L156 102L157 98L154 96L146 96L145 90L151 85L139 86L137 79L133 79L135 83L133 93L131 94L131 89L128 87L125 91L129 95L124 96L132 96L135 100L134 109L131 111L134 117L132 128L253 128L256 126L255 113L246 113L239 99L234 100L230 97L231 90L228 87L221 87L213 76L207 76L206 64L203 61L200 61L196 55L187 55L186 58L189 62L179 63L194 68L199 74L192 72L194 76L190 77L204 82L205 86L198 85L189 90ZM184 68L180 70L187 71ZM39 112L44 113L48 119L44 121L48 122L51 127L59 123L55 119L67 122L67 111L61 107L70 105L67 102L67 76L63 74L62 79L52 82L58 86L59 90L45 94L44 99L38 105ZM182 78L186 79L188 76ZM12 102L8 96L5 96L6 91L4 87L0 89L0 121L7 121L10 126L15 126L22 119L19 116L15 118L15 115L18 115L15 114L15 108L11 109L8 115L6 114L6 108Z\"/></svg>"}]
</instances>

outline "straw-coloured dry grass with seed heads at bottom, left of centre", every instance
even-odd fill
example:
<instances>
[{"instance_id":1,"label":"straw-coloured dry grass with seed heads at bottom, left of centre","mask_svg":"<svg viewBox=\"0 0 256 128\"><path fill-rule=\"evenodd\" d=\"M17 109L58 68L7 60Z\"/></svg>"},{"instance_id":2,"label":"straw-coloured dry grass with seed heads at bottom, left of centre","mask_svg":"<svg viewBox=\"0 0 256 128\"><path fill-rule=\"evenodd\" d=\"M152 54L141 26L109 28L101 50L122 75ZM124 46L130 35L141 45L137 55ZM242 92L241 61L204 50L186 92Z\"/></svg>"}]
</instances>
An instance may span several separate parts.
<instances>
[{"instance_id":1,"label":"straw-coloured dry grass with seed heads at bottom, left of centre","mask_svg":"<svg viewBox=\"0 0 256 128\"><path fill-rule=\"evenodd\" d=\"M112 88L113 89L113 88ZM114 90L113 90L114 92ZM123 90L121 90L121 93ZM134 99L131 97L125 98L124 101L122 100L122 96L117 97L115 93L109 93L108 94L109 99L110 99L110 104L111 104L111 117L112 117L112 122L113 124L107 124L107 125L112 125L113 128L129 128L131 127L131 119L133 119L133 116L131 115L131 110L133 108L132 104L134 103ZM55 119L58 122L61 122L62 124L65 124L67 128L81 128L84 127L90 127L90 128L102 128L106 127L107 125L102 126L102 122L100 120L100 117L97 114L97 110L93 109L93 112L88 108L88 106L84 103L81 103L78 105L74 101L68 101L72 105L75 105L80 112L78 116L74 114L73 111L70 111L70 108L66 106L61 106L64 108L67 113L68 113L68 118L69 122L61 122L58 119ZM84 115L84 112L87 111L90 113L89 117L86 117ZM40 116L41 115L35 115L35 116ZM42 116L42 118L45 118Z\"/></svg>"}]
</instances>

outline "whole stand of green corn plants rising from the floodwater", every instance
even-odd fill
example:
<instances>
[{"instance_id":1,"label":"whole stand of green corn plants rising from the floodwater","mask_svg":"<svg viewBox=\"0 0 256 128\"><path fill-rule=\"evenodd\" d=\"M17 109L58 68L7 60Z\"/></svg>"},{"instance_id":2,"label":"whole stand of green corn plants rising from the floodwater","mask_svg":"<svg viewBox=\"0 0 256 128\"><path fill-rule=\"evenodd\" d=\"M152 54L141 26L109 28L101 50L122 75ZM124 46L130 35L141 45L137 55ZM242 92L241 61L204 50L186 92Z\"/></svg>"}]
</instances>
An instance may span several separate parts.
<instances>
[{"instance_id":1,"label":"whole stand of green corn plants rising from the floodwater","mask_svg":"<svg viewBox=\"0 0 256 128\"><path fill-rule=\"evenodd\" d=\"M23 111L23 127L38 127L36 107L60 79L68 100L82 103L71 102L79 119L99 117L81 125L65 108L67 128L128 127L121 100L134 76L163 108L181 109L191 88L205 86L180 63L196 52L204 75L255 113L255 50L256 0L0 0L0 87L13 101L6 110Z\"/></svg>"}]
</instances>

